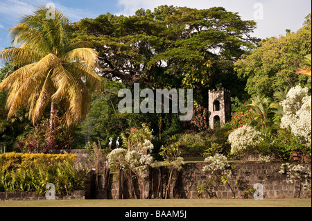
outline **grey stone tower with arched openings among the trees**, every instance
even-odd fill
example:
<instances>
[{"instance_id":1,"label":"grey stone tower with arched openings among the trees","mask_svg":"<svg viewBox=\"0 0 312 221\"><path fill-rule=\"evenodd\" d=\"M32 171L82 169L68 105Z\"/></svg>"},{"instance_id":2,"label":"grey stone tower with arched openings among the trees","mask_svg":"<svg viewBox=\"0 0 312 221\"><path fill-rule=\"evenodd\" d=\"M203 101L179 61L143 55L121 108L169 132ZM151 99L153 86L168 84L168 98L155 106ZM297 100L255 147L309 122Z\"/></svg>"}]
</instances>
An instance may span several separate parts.
<instances>
[{"instance_id":1,"label":"grey stone tower with arched openings among the trees","mask_svg":"<svg viewBox=\"0 0 312 221\"><path fill-rule=\"evenodd\" d=\"M223 126L231 121L231 91L228 89L213 89L208 91L209 125L214 129L217 123Z\"/></svg>"}]
</instances>

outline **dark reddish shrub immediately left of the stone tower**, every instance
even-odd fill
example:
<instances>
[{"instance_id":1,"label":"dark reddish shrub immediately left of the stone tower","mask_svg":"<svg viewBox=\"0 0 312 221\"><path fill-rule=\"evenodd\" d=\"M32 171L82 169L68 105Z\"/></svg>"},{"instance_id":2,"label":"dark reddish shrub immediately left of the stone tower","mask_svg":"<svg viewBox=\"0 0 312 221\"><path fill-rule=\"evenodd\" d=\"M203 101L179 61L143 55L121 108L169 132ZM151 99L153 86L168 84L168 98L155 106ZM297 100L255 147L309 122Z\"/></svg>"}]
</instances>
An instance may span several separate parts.
<instances>
[{"instance_id":1,"label":"dark reddish shrub immediately left of the stone tower","mask_svg":"<svg viewBox=\"0 0 312 221\"><path fill-rule=\"evenodd\" d=\"M207 108L198 105L193 109L193 118L191 119L190 123L198 131L206 130L208 128L207 117Z\"/></svg>"}]
</instances>

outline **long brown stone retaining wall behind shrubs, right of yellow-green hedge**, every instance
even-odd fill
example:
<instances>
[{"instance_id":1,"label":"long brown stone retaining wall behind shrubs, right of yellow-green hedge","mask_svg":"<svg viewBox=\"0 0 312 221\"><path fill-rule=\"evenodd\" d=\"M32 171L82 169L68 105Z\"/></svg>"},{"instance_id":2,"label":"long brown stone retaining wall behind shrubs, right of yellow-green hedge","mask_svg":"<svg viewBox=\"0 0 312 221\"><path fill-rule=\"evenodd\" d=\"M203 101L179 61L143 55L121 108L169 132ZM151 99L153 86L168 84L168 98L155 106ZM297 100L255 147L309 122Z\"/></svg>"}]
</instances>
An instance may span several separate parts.
<instances>
[{"instance_id":1,"label":"long brown stone retaining wall behind shrubs, right of yellow-green hedge","mask_svg":"<svg viewBox=\"0 0 312 221\"><path fill-rule=\"evenodd\" d=\"M211 188L214 197L230 199L237 198L253 198L251 190L254 184L260 183L263 186L263 195L267 199L277 198L293 198L298 195L298 184L288 184L286 175L279 173L282 163L231 163L232 177L229 178L228 184L218 184ZM200 197L211 197L207 193L198 194L197 187L204 184L209 179L209 175L202 173L202 167L207 163L185 163L180 172L173 175L171 183L171 198L187 198L196 199ZM311 169L311 164L308 165ZM160 179L162 177L162 179ZM96 190L96 198L98 199L120 199L130 198L130 188L126 175L123 177L122 189L119 182L119 173L110 174L110 184L108 188L103 188L103 176L98 177L98 188ZM166 168L150 168L150 173L146 178L146 198L164 198L166 181L168 180L168 171ZM162 183L161 183L162 182ZM138 186L135 185L135 197ZM309 180L311 187L311 179ZM121 194L123 195L121 197ZM309 189L300 192L301 198L311 197Z\"/></svg>"}]
</instances>

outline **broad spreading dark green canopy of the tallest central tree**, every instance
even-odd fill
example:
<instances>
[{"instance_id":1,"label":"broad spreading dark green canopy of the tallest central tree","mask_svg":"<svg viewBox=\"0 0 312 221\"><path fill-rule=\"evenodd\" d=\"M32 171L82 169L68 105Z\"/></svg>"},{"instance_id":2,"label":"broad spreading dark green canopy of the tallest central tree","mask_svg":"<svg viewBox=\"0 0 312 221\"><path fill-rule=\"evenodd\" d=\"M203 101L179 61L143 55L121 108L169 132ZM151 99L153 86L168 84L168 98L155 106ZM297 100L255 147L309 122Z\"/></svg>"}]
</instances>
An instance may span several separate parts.
<instances>
[{"instance_id":1,"label":"broad spreading dark green canopy of the tallest central tree","mask_svg":"<svg viewBox=\"0 0 312 221\"><path fill-rule=\"evenodd\" d=\"M105 78L148 87L210 87L211 78L259 39L254 21L224 8L159 6L125 17L107 13L71 26L72 37L94 42ZM226 64L226 65L225 65ZM224 72L224 73L223 73Z\"/></svg>"}]
</instances>

